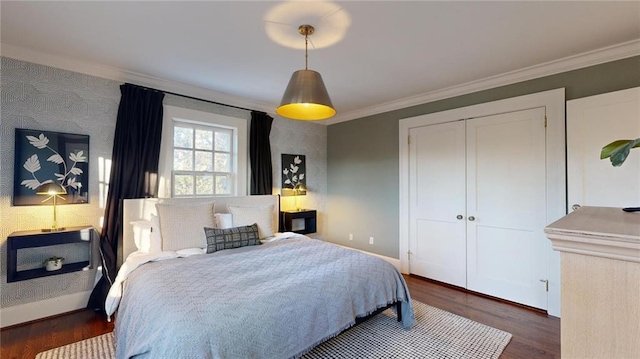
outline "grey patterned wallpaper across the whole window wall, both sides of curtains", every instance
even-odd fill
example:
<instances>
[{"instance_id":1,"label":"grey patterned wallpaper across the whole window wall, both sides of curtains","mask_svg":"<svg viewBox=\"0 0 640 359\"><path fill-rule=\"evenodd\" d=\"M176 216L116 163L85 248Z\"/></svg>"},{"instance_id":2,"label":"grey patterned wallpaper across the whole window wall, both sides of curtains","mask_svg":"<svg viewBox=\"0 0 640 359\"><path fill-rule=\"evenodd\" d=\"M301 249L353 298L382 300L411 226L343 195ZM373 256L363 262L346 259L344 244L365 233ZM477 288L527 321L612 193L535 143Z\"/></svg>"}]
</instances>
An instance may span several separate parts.
<instances>
[{"instance_id":1,"label":"grey patterned wallpaper across the whole window wall, both sides of curtains","mask_svg":"<svg viewBox=\"0 0 640 359\"><path fill-rule=\"evenodd\" d=\"M58 207L62 226L93 225L100 228L106 180L113 147L121 82L79 74L53 67L1 58L0 113L0 308L31 303L91 290L96 270L7 283L7 236L15 231L50 226L51 206L12 206L14 130L27 128L90 136L89 203ZM166 105L249 119L250 113L222 105L167 95ZM280 155L302 154L307 159L309 192L300 204L318 211L318 233L326 231L323 214L327 193L327 128L322 124L276 118L271 130L274 194L279 194ZM282 208L292 208L289 198ZM289 206L289 207L288 207ZM64 246L66 258L82 258L86 248ZM97 243L94 267L99 262ZM33 268L48 255L46 251L19 253L20 269ZM73 259L75 260L75 259Z\"/></svg>"}]
</instances>

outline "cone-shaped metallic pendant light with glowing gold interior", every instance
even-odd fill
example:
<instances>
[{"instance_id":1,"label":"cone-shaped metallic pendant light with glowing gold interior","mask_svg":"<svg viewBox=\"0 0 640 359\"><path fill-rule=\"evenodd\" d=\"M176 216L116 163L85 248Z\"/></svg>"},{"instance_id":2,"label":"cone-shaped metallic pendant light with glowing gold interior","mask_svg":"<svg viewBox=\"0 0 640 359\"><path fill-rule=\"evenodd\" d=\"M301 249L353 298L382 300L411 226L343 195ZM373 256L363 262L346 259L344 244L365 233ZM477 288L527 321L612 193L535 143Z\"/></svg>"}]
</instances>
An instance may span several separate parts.
<instances>
[{"instance_id":1,"label":"cone-shaped metallic pendant light with glowing gold interior","mask_svg":"<svg viewBox=\"0 0 640 359\"><path fill-rule=\"evenodd\" d=\"M325 120L336 114L322 76L307 69L309 36L314 33L311 25L300 25L298 32L304 35L304 70L291 75L276 113L293 120Z\"/></svg>"}]
</instances>

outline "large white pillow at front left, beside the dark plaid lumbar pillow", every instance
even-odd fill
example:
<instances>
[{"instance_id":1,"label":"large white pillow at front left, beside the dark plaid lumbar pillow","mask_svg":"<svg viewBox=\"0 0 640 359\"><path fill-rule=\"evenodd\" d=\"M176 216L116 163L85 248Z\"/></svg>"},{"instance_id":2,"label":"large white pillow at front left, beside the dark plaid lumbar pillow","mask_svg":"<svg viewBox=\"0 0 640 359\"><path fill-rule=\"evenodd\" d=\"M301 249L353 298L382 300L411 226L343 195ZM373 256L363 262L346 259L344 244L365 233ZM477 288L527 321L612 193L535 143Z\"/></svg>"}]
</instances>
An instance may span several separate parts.
<instances>
[{"instance_id":1,"label":"large white pillow at front left, beside the dark plaid lumbar pillow","mask_svg":"<svg viewBox=\"0 0 640 359\"><path fill-rule=\"evenodd\" d=\"M187 248L207 248L204 227L214 227L214 202L156 204L162 250L178 251Z\"/></svg>"}]
</instances>

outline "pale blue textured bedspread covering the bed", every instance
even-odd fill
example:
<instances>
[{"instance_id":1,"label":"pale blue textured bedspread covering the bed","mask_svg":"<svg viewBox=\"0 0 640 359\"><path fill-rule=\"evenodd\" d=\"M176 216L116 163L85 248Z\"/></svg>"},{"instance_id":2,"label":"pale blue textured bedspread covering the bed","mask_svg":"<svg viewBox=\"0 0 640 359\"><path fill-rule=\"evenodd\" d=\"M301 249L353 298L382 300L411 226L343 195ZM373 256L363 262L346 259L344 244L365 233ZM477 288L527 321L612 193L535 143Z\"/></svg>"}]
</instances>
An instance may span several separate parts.
<instances>
[{"instance_id":1,"label":"pale blue textured bedspread covering the bed","mask_svg":"<svg viewBox=\"0 0 640 359\"><path fill-rule=\"evenodd\" d=\"M290 358L409 291L396 268L308 237L151 262L125 282L117 358Z\"/></svg>"}]
</instances>

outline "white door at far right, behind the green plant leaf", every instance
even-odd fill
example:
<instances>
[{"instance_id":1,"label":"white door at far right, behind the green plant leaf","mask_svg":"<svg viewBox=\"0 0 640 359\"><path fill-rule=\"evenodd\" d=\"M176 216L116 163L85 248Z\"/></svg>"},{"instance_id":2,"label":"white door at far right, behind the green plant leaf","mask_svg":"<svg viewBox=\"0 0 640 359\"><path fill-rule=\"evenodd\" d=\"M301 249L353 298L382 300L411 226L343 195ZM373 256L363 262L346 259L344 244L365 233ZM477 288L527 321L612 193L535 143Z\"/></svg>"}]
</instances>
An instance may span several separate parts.
<instances>
[{"instance_id":1,"label":"white door at far right, behind the green plant leaf","mask_svg":"<svg viewBox=\"0 0 640 359\"><path fill-rule=\"evenodd\" d=\"M640 88L567 102L567 183L569 208L640 206L640 149L620 167L600 151L615 140L640 137Z\"/></svg>"}]
</instances>

